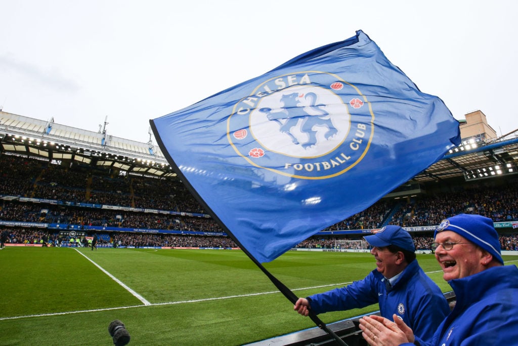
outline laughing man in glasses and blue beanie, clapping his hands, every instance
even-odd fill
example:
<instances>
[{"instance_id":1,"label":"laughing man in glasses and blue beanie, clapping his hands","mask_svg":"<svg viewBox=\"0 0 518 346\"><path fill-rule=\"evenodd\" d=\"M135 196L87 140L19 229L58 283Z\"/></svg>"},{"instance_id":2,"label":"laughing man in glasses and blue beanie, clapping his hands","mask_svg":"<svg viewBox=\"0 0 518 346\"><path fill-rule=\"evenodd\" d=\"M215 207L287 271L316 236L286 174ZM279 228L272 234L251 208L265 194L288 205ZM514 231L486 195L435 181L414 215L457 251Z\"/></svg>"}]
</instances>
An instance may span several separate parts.
<instances>
[{"instance_id":1,"label":"laughing man in glasses and blue beanie, clapping his hands","mask_svg":"<svg viewBox=\"0 0 518 346\"><path fill-rule=\"evenodd\" d=\"M504 266L493 220L461 214L435 231L435 257L457 302L431 341L399 319L362 317L370 345L501 345L518 340L518 268Z\"/></svg>"}]
</instances>

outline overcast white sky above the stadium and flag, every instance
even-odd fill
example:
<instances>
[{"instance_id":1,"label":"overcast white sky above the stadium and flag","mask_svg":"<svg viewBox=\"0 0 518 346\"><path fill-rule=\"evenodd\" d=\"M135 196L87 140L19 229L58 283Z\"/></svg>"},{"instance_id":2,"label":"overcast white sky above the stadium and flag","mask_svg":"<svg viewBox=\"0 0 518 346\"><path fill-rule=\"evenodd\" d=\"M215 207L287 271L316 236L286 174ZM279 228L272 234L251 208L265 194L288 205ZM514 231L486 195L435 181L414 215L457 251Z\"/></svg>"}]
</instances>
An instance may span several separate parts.
<instances>
[{"instance_id":1,"label":"overcast white sky above the stadium and flag","mask_svg":"<svg viewBox=\"0 0 518 346\"><path fill-rule=\"evenodd\" d=\"M456 119L518 129L518 1L0 0L5 112L149 140L149 119L363 30Z\"/></svg>"}]
</instances>

